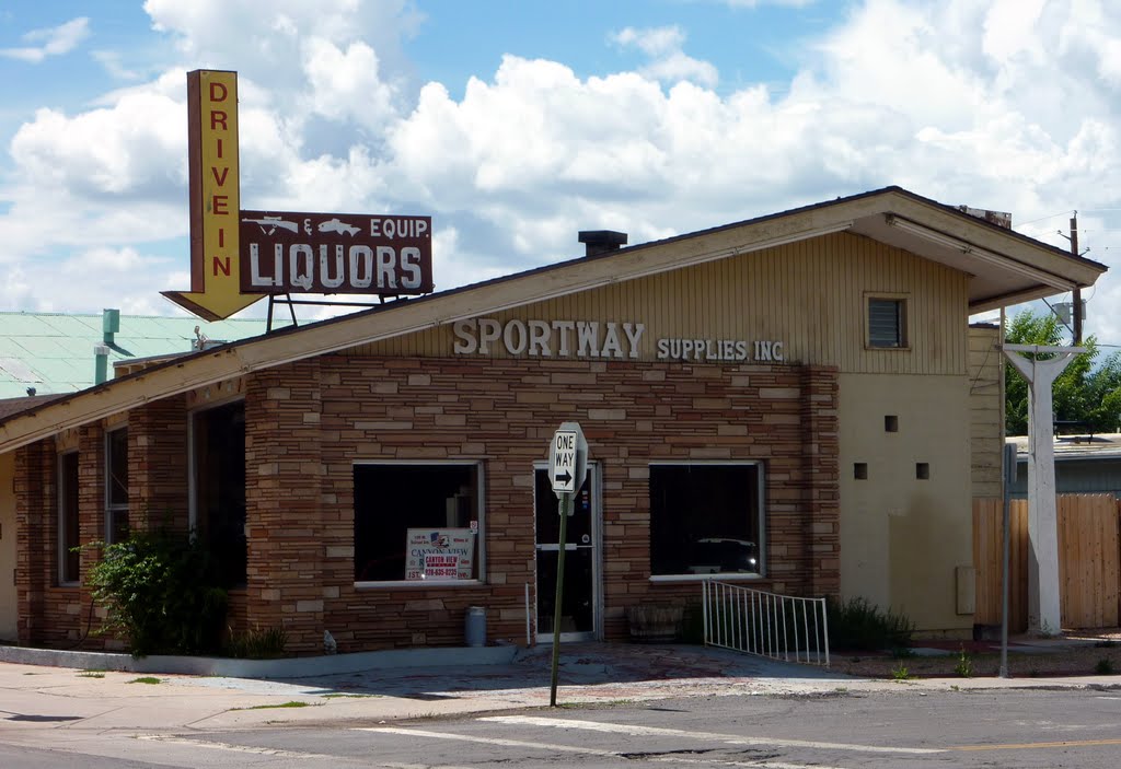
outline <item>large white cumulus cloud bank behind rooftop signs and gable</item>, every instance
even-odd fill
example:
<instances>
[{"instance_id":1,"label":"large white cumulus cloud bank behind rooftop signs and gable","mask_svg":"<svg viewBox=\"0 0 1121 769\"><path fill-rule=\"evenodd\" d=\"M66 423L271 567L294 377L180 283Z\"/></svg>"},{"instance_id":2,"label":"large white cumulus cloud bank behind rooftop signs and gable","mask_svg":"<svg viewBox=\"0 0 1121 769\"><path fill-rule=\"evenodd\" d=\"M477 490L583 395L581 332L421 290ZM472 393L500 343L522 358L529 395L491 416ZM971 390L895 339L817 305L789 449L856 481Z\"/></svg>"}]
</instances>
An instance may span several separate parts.
<instances>
[{"instance_id":1,"label":"large white cumulus cloud bank behind rooftop signs and gable","mask_svg":"<svg viewBox=\"0 0 1121 769\"><path fill-rule=\"evenodd\" d=\"M790 51L775 88L717 91L686 28L632 27L605 43L642 57L632 72L507 55L462 95L413 82L406 0L146 9L184 62L240 73L245 207L432 214L439 288L577 255L578 229L640 243L889 184L1011 210L1058 244L1071 209L1121 208L1121 8L1105 0L863 0ZM18 130L0 300L27 302L30 257L52 248L146 259L186 232L185 111L168 67ZM1086 218L1105 238L1090 255L1114 265L1117 221ZM176 259L136 296L184 288L164 284ZM1121 318L1095 312L1111 303L1112 275L1090 326L1121 341Z\"/></svg>"}]
</instances>

